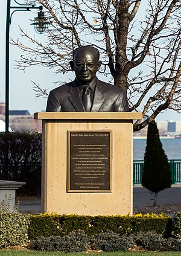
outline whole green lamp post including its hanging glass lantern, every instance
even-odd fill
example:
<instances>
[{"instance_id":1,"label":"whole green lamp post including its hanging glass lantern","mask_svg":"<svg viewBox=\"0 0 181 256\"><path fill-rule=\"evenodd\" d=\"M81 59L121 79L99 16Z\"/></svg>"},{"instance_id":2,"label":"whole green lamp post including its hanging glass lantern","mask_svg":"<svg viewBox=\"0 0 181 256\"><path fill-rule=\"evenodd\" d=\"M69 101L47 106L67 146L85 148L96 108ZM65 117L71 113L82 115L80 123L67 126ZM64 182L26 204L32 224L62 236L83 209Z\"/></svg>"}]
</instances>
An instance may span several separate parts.
<instances>
[{"instance_id":1,"label":"whole green lamp post including its hanging glass lantern","mask_svg":"<svg viewBox=\"0 0 181 256\"><path fill-rule=\"evenodd\" d=\"M10 72L10 24L11 18L15 11L30 11L31 9L39 9L38 17L35 18L35 22L32 24L35 26L35 30L42 34L48 27L49 22L45 18L42 11L43 7L36 7L35 4L19 4L16 0L16 6L11 6L11 0L7 0L7 18L6 18L6 36L5 36L5 132L8 133L9 127L9 72ZM11 13L11 10L12 13Z\"/></svg>"}]
</instances>

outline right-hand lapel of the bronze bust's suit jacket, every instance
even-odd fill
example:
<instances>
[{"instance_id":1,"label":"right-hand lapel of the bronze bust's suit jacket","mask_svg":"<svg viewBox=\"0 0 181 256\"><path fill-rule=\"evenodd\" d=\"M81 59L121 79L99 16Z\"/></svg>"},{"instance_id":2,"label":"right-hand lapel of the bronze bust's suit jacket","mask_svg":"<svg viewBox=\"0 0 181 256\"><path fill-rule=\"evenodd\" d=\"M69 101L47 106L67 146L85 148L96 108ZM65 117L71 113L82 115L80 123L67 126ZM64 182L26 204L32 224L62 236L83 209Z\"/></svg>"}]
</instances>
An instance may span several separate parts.
<instances>
[{"instance_id":1,"label":"right-hand lapel of the bronze bust's suit jacket","mask_svg":"<svg viewBox=\"0 0 181 256\"><path fill-rule=\"evenodd\" d=\"M94 93L94 101L92 104L91 112L98 112L106 98L106 95L104 94L105 91L102 86L100 86L100 81L97 80L97 85L95 87L95 93Z\"/></svg>"}]
</instances>

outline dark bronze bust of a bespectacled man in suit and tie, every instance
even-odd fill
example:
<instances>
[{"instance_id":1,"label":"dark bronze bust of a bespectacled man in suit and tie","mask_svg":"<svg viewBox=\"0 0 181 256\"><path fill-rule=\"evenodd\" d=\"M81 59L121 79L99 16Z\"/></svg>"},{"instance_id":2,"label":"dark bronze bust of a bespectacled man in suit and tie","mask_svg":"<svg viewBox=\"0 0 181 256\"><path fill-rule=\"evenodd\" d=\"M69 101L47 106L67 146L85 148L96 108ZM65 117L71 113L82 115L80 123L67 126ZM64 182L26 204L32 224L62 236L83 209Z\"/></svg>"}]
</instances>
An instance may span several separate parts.
<instances>
[{"instance_id":1,"label":"dark bronze bust of a bespectacled man in suit and tie","mask_svg":"<svg viewBox=\"0 0 181 256\"><path fill-rule=\"evenodd\" d=\"M75 80L49 92L46 112L129 112L125 91L96 77L100 53L92 46L74 50Z\"/></svg>"}]
</instances>

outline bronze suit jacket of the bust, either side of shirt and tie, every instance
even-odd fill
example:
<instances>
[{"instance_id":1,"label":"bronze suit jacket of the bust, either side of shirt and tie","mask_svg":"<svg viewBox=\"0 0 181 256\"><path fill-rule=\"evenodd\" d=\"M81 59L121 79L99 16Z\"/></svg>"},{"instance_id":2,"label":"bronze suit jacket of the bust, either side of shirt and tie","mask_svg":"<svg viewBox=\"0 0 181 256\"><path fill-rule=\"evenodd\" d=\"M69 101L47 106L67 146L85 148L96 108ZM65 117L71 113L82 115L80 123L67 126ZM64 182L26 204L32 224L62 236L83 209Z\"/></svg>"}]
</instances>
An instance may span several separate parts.
<instances>
[{"instance_id":1,"label":"bronze suit jacket of the bust, either side of shirt and tie","mask_svg":"<svg viewBox=\"0 0 181 256\"><path fill-rule=\"evenodd\" d=\"M74 81L49 92L46 112L84 112L79 88ZM97 80L90 112L129 112L125 91Z\"/></svg>"}]
</instances>

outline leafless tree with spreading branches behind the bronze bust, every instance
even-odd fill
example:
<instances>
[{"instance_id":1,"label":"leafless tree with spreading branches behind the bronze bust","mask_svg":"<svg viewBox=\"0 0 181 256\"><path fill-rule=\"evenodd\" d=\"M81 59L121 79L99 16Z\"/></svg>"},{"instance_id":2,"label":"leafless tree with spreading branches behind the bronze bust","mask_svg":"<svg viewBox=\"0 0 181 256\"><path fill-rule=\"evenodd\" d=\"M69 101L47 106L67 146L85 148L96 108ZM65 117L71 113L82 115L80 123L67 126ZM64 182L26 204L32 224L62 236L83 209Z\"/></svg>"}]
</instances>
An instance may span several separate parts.
<instances>
[{"instance_id":1,"label":"leafless tree with spreading branches behind the bronze bust","mask_svg":"<svg viewBox=\"0 0 181 256\"><path fill-rule=\"evenodd\" d=\"M65 73L70 71L72 51L93 45L101 52L100 72L127 91L131 111L143 113L135 130L162 110L180 110L180 0L27 2L42 4L51 25L45 44L21 29L31 46L13 40L24 52L17 68L41 65Z\"/></svg>"}]
</instances>

